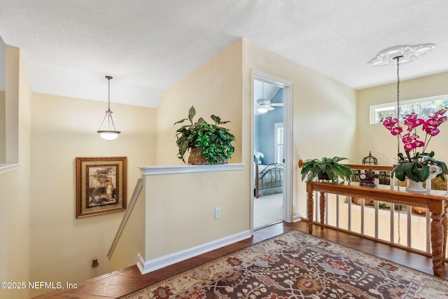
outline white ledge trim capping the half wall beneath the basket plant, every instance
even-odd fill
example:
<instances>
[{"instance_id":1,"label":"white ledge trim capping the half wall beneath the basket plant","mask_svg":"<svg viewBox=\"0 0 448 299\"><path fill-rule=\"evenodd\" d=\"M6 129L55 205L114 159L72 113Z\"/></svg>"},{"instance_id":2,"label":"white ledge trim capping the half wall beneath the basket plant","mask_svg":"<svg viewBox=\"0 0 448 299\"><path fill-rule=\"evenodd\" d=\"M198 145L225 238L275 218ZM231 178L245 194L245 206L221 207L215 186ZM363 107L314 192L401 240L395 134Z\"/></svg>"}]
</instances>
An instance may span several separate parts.
<instances>
[{"instance_id":1,"label":"white ledge trim capping the half wall beneath the basket plant","mask_svg":"<svg viewBox=\"0 0 448 299\"><path fill-rule=\"evenodd\" d=\"M141 174L151 176L157 174L186 174L190 172L225 172L230 170L242 170L244 169L244 164L139 166L139 169Z\"/></svg>"}]
</instances>

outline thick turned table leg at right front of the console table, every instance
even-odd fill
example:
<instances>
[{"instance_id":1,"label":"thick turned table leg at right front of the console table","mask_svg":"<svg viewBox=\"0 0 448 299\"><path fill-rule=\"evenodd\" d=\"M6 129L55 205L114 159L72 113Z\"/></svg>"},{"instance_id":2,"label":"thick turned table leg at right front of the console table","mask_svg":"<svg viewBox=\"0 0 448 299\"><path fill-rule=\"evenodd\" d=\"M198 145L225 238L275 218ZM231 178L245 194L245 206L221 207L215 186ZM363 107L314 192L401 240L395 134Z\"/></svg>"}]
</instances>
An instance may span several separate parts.
<instances>
[{"instance_id":1,"label":"thick turned table leg at right front of the console table","mask_svg":"<svg viewBox=\"0 0 448 299\"><path fill-rule=\"evenodd\" d=\"M442 264L444 263L443 244L444 232L442 225L442 214L431 213L431 252L433 256L434 275L440 276Z\"/></svg>"}]
</instances>

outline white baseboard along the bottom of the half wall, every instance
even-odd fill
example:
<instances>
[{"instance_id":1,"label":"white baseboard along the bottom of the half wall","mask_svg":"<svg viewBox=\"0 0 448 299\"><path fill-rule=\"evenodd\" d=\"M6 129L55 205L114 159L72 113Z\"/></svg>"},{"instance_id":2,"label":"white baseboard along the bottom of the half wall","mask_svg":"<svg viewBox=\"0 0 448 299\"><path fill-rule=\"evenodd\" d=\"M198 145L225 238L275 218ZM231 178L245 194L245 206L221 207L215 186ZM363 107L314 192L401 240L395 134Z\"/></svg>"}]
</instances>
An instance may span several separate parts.
<instances>
[{"instance_id":1,"label":"white baseboard along the bottom of the half wall","mask_svg":"<svg viewBox=\"0 0 448 299\"><path fill-rule=\"evenodd\" d=\"M217 239L209 243L200 244L195 247L191 247L188 249L168 254L167 256L160 256L160 258L153 258L152 260L145 260L143 256L141 256L141 254L139 253L137 254L137 267L139 267L141 274L146 274L154 270L161 269L162 267L167 267L169 265L179 263L182 260L199 256L202 253L206 253L214 249L218 249L223 246L239 242L244 239L248 239L250 237L251 237L251 231L246 230L244 232L239 232L236 235L223 237L221 239Z\"/></svg>"}]
</instances>

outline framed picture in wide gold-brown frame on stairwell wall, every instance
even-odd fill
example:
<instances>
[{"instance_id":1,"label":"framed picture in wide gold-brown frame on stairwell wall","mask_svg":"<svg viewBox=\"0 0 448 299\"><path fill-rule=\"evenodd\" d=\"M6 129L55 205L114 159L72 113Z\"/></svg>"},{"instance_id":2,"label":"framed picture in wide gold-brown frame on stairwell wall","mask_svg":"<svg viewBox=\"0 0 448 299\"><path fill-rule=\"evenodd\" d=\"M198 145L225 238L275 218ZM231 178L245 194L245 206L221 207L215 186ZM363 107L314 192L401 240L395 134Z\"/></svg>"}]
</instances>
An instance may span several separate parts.
<instances>
[{"instance_id":1,"label":"framed picture in wide gold-brown frame on stairwell wall","mask_svg":"<svg viewBox=\"0 0 448 299\"><path fill-rule=\"evenodd\" d=\"M127 157L76 158L76 218L126 209Z\"/></svg>"}]
</instances>

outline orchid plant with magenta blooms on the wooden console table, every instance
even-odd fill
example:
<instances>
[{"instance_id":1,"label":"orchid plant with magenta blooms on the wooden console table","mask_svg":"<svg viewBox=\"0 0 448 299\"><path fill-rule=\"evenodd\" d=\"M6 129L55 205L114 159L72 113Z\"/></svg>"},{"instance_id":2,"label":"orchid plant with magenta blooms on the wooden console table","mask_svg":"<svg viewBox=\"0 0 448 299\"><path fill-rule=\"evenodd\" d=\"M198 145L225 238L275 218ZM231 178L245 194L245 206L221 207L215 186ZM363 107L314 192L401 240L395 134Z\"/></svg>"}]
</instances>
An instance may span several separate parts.
<instances>
[{"instance_id":1,"label":"orchid plant with magenta blooms on the wooden console table","mask_svg":"<svg viewBox=\"0 0 448 299\"><path fill-rule=\"evenodd\" d=\"M440 133L438 127L447 121L447 116L444 116L447 111L447 107L440 109L433 113L428 120L419 118L414 112L406 114L403 123L406 130L400 126L398 118L388 116L383 120L384 127L404 144L403 149L406 155L398 153L398 165L395 165L392 170L392 174L395 174L397 179L405 181L406 178L409 178L412 181L426 181L431 172L437 172L437 176L444 179L447 165L440 160L435 160L434 151L427 153L427 148L430 139ZM420 133L417 132L418 128L423 132L424 139L421 139ZM422 148L421 153L418 148ZM440 170L435 166L440 167Z\"/></svg>"}]
</instances>

